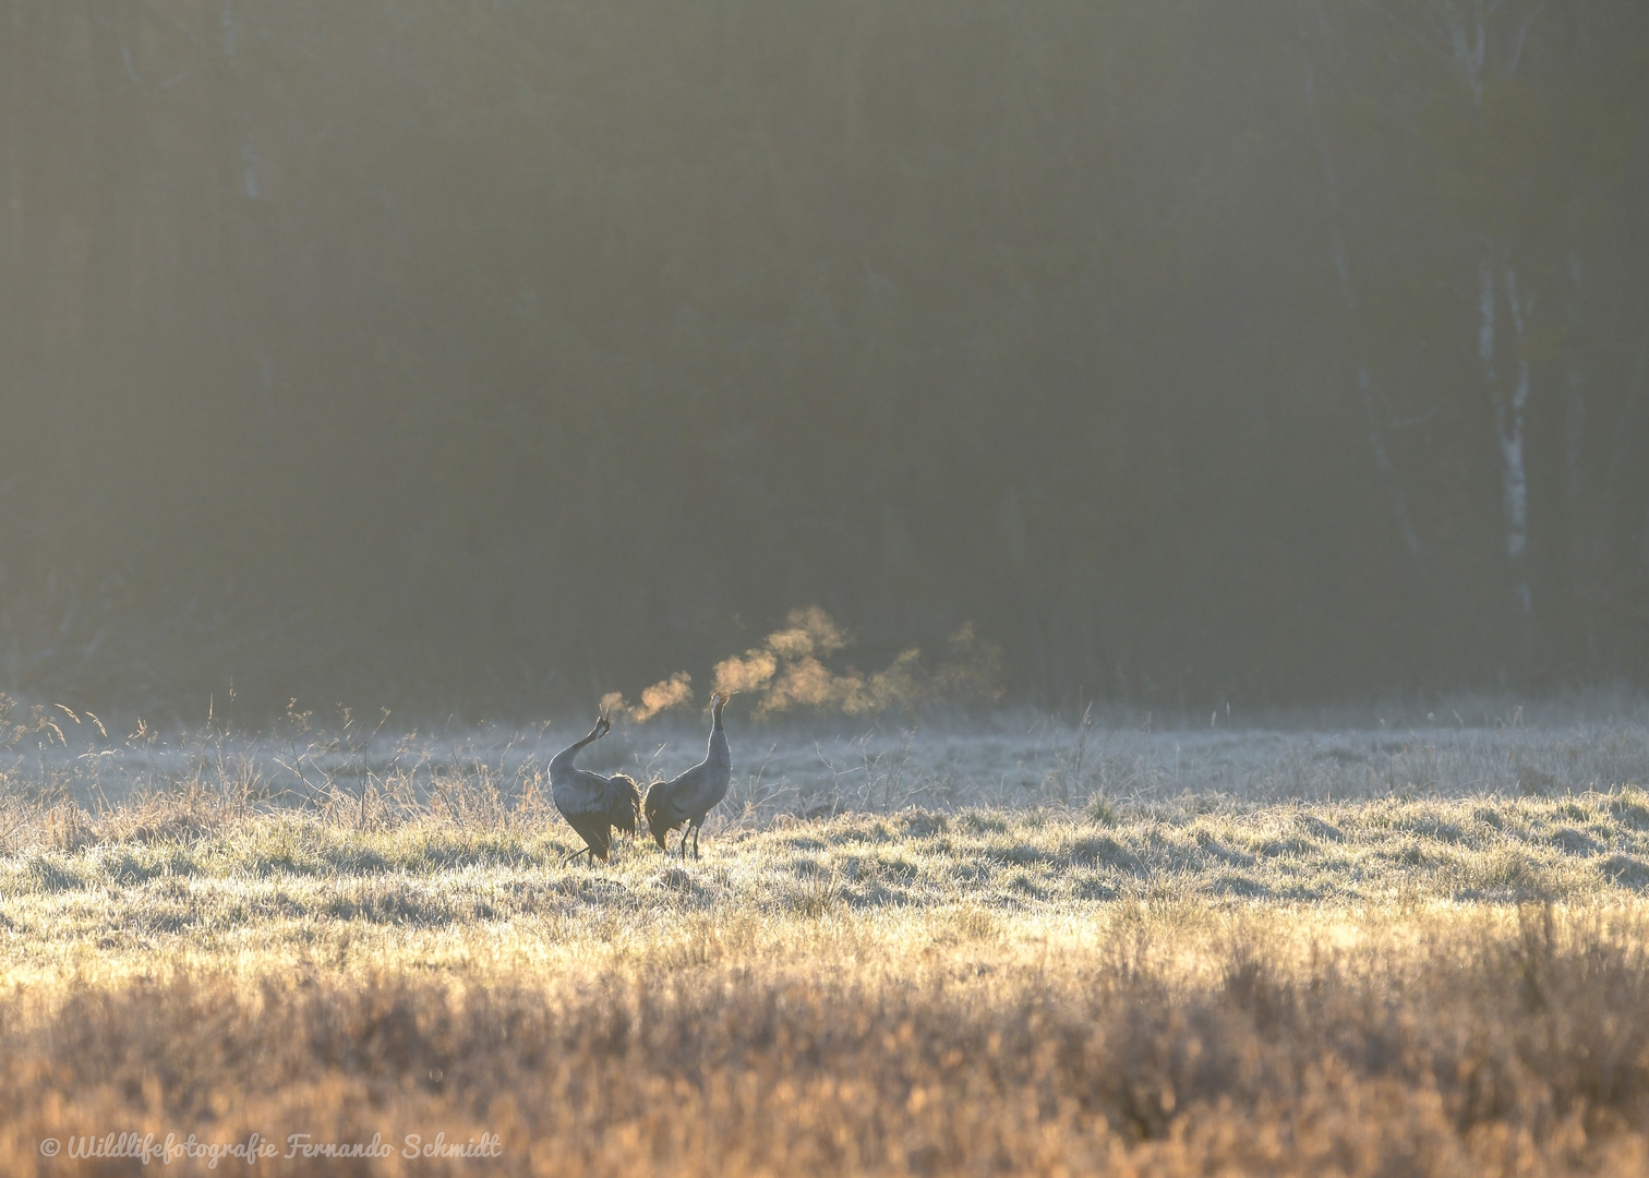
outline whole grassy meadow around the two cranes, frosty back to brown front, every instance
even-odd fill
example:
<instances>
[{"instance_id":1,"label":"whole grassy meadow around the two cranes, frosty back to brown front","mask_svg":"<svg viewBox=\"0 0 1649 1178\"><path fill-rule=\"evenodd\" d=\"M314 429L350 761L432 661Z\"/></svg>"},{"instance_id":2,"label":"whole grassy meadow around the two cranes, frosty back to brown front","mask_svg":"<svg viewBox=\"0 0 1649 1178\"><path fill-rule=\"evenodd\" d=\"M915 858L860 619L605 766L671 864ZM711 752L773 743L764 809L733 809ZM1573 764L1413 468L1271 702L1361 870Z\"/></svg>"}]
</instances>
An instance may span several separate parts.
<instances>
[{"instance_id":1,"label":"whole grassy meadow around the two cranes, frosty back to brown front","mask_svg":"<svg viewBox=\"0 0 1649 1178\"><path fill-rule=\"evenodd\" d=\"M702 860L589 869L559 733L43 719L5 1173L1649 1170L1639 721L735 731Z\"/></svg>"}]
</instances>

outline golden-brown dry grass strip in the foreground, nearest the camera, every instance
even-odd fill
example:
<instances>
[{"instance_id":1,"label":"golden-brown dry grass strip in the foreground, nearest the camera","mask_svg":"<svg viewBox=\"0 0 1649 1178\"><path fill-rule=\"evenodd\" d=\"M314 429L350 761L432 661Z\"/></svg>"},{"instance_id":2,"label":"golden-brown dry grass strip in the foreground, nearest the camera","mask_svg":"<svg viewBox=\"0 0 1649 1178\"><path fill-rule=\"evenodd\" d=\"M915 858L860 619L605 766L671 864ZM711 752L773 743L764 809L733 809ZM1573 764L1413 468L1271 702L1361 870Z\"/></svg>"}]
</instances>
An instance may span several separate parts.
<instances>
[{"instance_id":1,"label":"golden-brown dry grass strip in the foreground, nearest the camera","mask_svg":"<svg viewBox=\"0 0 1649 1178\"><path fill-rule=\"evenodd\" d=\"M430 968L417 939L353 967L176 960L12 992L0 1162L91 1171L38 1142L112 1130L495 1132L495 1162L328 1165L1623 1173L1646 1162L1644 916L701 912L546 937L538 967Z\"/></svg>"}]
</instances>

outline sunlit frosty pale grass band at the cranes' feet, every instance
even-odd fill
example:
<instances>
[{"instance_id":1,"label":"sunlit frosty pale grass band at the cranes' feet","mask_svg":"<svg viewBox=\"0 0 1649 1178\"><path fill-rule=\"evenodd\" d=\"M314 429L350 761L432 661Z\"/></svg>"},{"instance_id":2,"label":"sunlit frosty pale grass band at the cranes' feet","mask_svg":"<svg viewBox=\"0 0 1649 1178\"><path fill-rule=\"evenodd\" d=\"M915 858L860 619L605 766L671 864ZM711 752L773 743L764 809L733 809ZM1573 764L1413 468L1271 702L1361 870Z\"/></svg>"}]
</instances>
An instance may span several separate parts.
<instances>
[{"instance_id":1,"label":"sunlit frosty pale grass band at the cranes' feet","mask_svg":"<svg viewBox=\"0 0 1649 1178\"><path fill-rule=\"evenodd\" d=\"M167 807L171 807L167 812ZM58 810L54 813L63 813ZM904 810L729 828L706 858L620 843L567 865L557 818L493 828L417 817L356 828L308 812L213 817L152 802L147 820L63 823L0 858L13 972L171 952L294 955L445 944L511 929L521 945L607 921L650 937L693 917L879 912L966 904L1004 917L1098 919L1113 902L1631 902L1649 889L1649 795L1196 802L1083 810ZM127 823L122 827L122 823ZM491 932L486 932L491 935Z\"/></svg>"}]
</instances>

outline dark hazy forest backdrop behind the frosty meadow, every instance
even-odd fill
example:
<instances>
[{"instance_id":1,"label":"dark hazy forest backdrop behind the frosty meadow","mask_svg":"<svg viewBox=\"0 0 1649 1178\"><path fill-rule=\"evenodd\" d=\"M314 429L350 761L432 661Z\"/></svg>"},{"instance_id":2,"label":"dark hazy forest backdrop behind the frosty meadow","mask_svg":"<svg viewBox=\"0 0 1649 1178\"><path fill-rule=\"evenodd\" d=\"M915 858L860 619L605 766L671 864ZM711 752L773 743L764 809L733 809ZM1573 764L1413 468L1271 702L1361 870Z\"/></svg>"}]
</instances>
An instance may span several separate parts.
<instances>
[{"instance_id":1,"label":"dark hazy forest backdrop behind the frosty meadow","mask_svg":"<svg viewBox=\"0 0 1649 1178\"><path fill-rule=\"evenodd\" d=\"M1649 7L0 0L0 398L13 693L1641 683Z\"/></svg>"}]
</instances>

